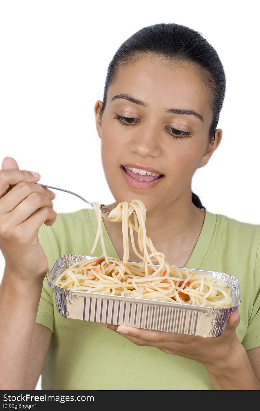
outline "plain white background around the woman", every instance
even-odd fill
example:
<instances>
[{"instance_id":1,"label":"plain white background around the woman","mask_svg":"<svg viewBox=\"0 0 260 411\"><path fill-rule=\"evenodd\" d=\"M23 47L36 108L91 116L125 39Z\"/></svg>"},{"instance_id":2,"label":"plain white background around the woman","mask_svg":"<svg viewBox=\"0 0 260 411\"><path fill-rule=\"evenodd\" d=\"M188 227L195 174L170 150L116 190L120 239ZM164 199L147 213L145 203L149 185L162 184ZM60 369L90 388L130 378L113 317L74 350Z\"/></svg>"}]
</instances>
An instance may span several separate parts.
<instances>
[{"instance_id":1,"label":"plain white background around the woman","mask_svg":"<svg viewBox=\"0 0 260 411\"><path fill-rule=\"evenodd\" d=\"M39 172L43 184L111 203L94 118L108 64L140 28L179 23L212 44L227 79L223 139L196 171L193 191L211 212L260 224L255 7L254 1L1 1L0 162L14 157L20 169ZM56 191L56 212L84 207ZM0 278L4 265L0 254Z\"/></svg>"}]
</instances>

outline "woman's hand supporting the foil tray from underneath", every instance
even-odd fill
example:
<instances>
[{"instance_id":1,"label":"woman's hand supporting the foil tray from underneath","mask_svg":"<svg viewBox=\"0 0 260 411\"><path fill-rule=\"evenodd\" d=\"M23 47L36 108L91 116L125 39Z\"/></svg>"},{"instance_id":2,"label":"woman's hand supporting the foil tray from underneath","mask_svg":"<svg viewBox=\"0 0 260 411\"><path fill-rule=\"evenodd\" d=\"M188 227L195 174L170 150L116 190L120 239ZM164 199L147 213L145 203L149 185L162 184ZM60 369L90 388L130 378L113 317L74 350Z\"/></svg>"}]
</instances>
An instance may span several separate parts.
<instances>
[{"instance_id":1,"label":"woman's hand supporting the foil tray from underneath","mask_svg":"<svg viewBox=\"0 0 260 411\"><path fill-rule=\"evenodd\" d=\"M244 347L236 334L239 322L238 311L230 314L223 334L216 338L203 338L129 326L102 325L106 325L110 330L117 331L122 337L129 339L138 346L156 347L167 354L190 358L215 371L216 367L221 369L221 367L228 366L230 361L244 351Z\"/></svg>"}]
</instances>

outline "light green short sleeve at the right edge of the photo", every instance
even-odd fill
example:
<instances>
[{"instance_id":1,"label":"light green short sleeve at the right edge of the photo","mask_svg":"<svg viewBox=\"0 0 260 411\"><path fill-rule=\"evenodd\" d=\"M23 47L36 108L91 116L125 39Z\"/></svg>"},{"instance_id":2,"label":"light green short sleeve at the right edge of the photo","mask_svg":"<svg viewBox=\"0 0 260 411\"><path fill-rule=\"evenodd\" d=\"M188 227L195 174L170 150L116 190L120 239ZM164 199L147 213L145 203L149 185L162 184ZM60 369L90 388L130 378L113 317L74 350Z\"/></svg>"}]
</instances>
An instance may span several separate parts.
<instances>
[{"instance_id":1,"label":"light green short sleeve at the right edge of the photo","mask_svg":"<svg viewBox=\"0 0 260 411\"><path fill-rule=\"evenodd\" d=\"M242 341L246 350L260 346L260 242L258 242L256 253L253 288L253 308L248 320L246 335Z\"/></svg>"}]
</instances>

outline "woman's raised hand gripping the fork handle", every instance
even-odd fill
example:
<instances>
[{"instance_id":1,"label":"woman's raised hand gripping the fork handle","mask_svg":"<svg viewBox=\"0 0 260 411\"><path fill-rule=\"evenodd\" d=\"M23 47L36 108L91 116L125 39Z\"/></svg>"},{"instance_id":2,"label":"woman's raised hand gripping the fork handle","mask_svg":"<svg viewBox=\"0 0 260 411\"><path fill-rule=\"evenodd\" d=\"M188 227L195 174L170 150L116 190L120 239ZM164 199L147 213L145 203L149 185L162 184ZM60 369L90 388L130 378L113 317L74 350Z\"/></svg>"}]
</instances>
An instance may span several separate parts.
<instances>
[{"instance_id":1,"label":"woman's raised hand gripping the fork handle","mask_svg":"<svg viewBox=\"0 0 260 411\"><path fill-rule=\"evenodd\" d=\"M5 157L0 170L0 249L5 268L16 280L43 281L48 260L38 238L42 224L51 226L57 217L55 195L30 171L19 170L12 157Z\"/></svg>"}]
</instances>

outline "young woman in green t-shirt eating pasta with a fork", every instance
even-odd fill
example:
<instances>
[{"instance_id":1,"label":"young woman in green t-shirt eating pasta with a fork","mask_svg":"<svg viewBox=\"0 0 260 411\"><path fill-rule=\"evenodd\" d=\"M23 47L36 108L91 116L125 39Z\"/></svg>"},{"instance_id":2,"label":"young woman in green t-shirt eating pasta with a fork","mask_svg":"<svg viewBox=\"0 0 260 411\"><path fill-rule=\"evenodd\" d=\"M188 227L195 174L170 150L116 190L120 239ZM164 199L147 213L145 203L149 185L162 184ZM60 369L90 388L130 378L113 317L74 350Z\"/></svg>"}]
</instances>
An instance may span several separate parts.
<instances>
[{"instance_id":1,"label":"young woman in green t-shirt eating pasta with a fork","mask_svg":"<svg viewBox=\"0 0 260 411\"><path fill-rule=\"evenodd\" d=\"M56 215L39 177L4 159L0 171L1 389L259 390L260 225L216 215L191 192L219 143L225 74L214 48L177 24L145 27L115 53L94 107L115 203L140 199L166 261L239 279L242 302L223 335L202 338L64 319L45 275L64 254L90 254L94 210ZM147 174L148 172L148 174ZM102 222L122 259L121 224ZM99 243L94 256L102 253ZM138 261L131 249L129 261ZM30 290L30 298L28 298Z\"/></svg>"}]
</instances>

